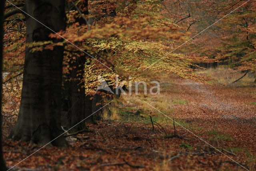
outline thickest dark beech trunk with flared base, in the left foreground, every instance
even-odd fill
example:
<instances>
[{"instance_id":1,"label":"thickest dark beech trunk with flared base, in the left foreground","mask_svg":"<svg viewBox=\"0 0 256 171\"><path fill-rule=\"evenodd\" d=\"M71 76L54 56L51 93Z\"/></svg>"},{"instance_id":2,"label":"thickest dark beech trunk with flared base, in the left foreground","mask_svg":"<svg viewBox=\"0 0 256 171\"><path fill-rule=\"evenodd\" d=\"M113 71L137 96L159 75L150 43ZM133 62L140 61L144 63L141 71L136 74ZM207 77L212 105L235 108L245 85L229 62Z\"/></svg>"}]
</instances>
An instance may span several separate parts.
<instances>
[{"instance_id":1,"label":"thickest dark beech trunk with flared base, in the left foreground","mask_svg":"<svg viewBox=\"0 0 256 171\"><path fill-rule=\"evenodd\" d=\"M65 30L64 0L26 0L26 12L55 32ZM51 31L26 16L28 43L56 39L49 38ZM26 49L20 113L12 140L30 141L45 145L63 131L60 127L63 47L54 50L30 52ZM49 146L66 146L63 136Z\"/></svg>"}]
</instances>

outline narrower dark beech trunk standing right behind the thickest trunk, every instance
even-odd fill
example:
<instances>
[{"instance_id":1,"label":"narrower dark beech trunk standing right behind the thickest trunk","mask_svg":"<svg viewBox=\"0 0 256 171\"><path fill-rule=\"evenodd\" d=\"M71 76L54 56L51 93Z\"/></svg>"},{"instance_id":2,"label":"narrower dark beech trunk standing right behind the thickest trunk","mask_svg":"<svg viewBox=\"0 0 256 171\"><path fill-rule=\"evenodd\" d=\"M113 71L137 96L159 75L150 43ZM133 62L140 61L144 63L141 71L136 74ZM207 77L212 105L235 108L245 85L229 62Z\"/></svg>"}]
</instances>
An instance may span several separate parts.
<instances>
[{"instance_id":1,"label":"narrower dark beech trunk standing right behind the thickest trunk","mask_svg":"<svg viewBox=\"0 0 256 171\"><path fill-rule=\"evenodd\" d=\"M84 2L70 2L69 8L74 8L77 11L76 20L80 25L87 25L88 20L88 0ZM79 45L78 45L79 46ZM68 54L71 54L68 58ZM84 118L91 114L90 108L91 100L86 97L84 83L84 67L87 54L78 54L74 52L65 51L67 62L66 64L72 68L64 72L63 91L62 91L62 117L61 123L67 129L79 123L72 131L78 131L86 128ZM87 110L86 110L87 109Z\"/></svg>"}]
</instances>

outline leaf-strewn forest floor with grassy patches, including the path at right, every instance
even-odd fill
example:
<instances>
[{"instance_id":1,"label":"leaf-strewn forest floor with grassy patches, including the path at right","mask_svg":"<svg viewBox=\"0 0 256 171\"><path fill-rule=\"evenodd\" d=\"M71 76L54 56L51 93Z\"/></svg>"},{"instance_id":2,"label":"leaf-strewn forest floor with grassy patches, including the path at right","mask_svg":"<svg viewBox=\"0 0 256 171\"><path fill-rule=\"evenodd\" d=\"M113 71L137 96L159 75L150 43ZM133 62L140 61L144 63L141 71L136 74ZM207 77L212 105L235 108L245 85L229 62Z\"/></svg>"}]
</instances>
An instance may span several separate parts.
<instances>
[{"instance_id":1,"label":"leaf-strewn forest floor with grassy patches, including the path at right","mask_svg":"<svg viewBox=\"0 0 256 171\"><path fill-rule=\"evenodd\" d=\"M248 84L253 78L230 84L243 74L200 74L219 82L208 85L161 76L160 95L122 95L122 104L110 107L115 116L106 112L98 125L88 125L91 131L69 137L70 147L44 147L15 168L256 170L256 87ZM4 141L6 165L15 165L39 148Z\"/></svg>"}]
</instances>

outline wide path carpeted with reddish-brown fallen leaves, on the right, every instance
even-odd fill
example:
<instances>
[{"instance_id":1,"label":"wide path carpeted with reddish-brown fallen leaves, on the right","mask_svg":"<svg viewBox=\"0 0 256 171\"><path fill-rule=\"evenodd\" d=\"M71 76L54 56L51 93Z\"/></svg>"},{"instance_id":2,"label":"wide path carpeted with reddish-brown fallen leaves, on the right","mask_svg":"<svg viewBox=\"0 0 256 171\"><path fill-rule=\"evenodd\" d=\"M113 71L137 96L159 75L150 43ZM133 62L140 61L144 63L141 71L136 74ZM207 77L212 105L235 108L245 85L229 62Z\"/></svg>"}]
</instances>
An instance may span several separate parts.
<instances>
[{"instance_id":1,"label":"wide path carpeted with reddish-brown fallen leaves, on the right","mask_svg":"<svg viewBox=\"0 0 256 171\"><path fill-rule=\"evenodd\" d=\"M238 147L256 149L255 87L226 87L207 85L189 80L178 81L178 98L187 104L175 106L176 117L191 121L203 130L220 130L231 135ZM202 131L198 131L202 133Z\"/></svg>"}]
</instances>

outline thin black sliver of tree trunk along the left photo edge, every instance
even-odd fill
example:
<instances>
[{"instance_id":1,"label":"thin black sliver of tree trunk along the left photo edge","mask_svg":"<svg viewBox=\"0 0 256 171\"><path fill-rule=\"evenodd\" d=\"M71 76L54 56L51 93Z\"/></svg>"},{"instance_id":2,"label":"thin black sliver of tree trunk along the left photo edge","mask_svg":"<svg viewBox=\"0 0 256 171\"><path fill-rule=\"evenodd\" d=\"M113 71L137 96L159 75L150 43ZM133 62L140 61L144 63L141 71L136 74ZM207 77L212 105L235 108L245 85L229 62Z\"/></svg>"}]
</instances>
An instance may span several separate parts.
<instances>
[{"instance_id":1,"label":"thin black sliver of tree trunk along the left photo edge","mask_svg":"<svg viewBox=\"0 0 256 171\"><path fill-rule=\"evenodd\" d=\"M4 23L4 0L0 4L0 10L2 14L0 15L0 89L2 90L2 65L3 65L3 23ZM2 92L0 93L0 107L2 109ZM3 158L2 149L2 110L0 111L0 168L2 171L6 171L6 166Z\"/></svg>"}]
</instances>

